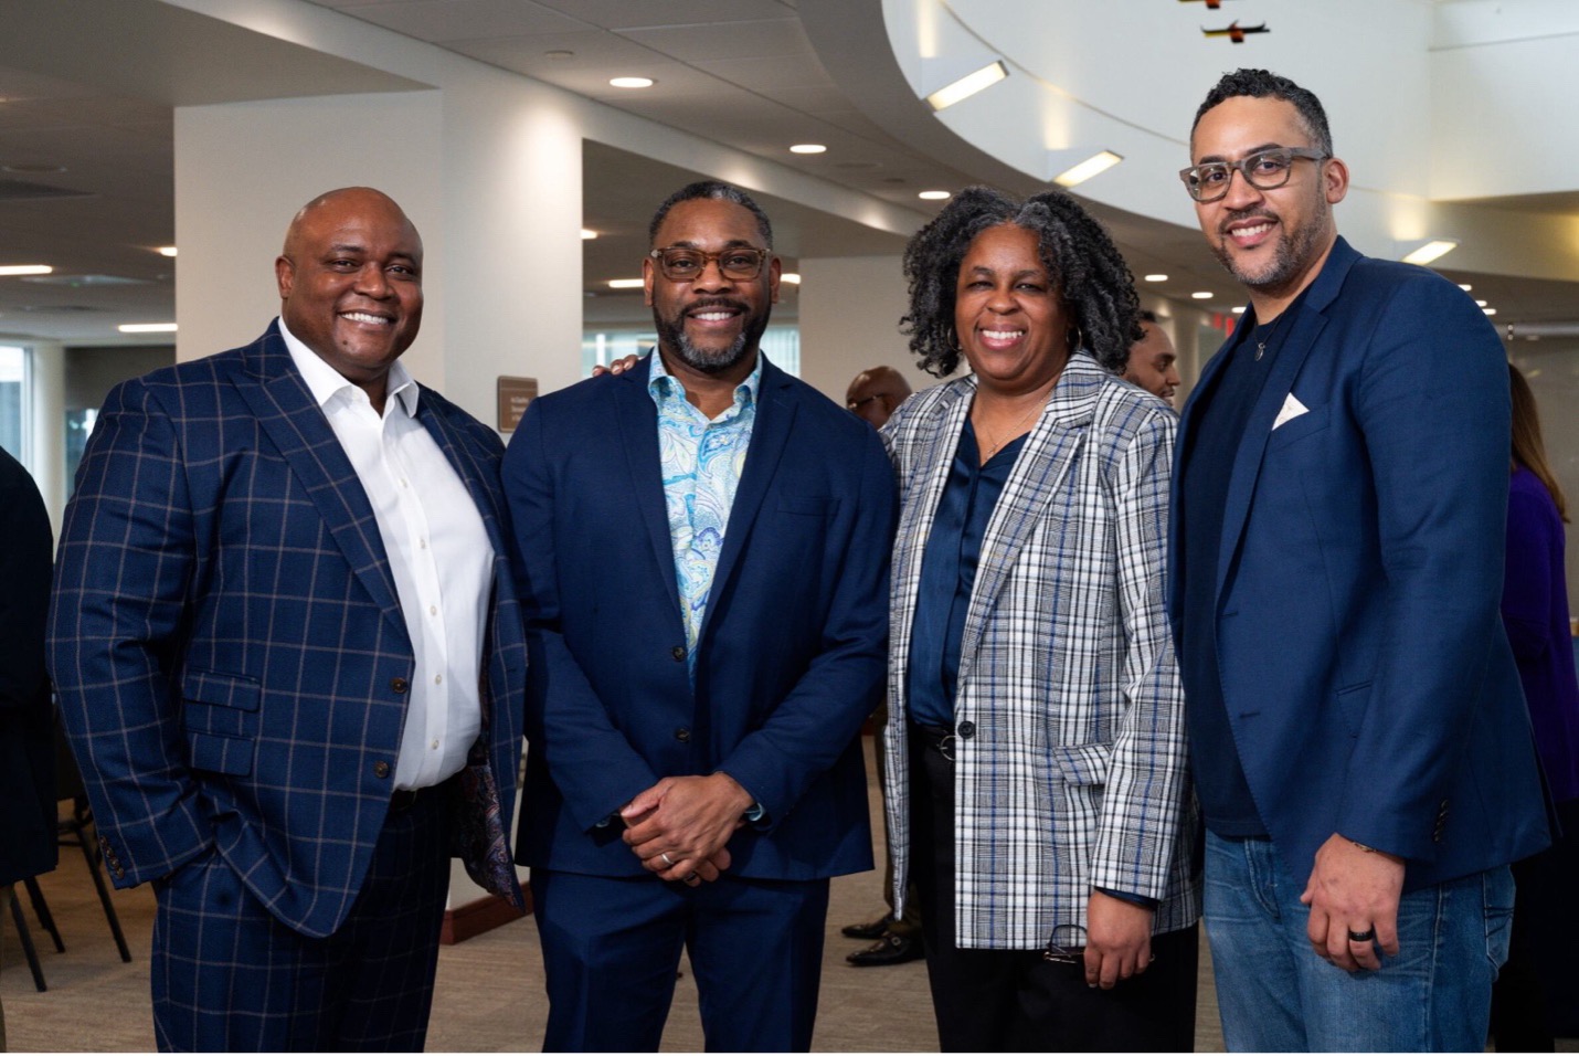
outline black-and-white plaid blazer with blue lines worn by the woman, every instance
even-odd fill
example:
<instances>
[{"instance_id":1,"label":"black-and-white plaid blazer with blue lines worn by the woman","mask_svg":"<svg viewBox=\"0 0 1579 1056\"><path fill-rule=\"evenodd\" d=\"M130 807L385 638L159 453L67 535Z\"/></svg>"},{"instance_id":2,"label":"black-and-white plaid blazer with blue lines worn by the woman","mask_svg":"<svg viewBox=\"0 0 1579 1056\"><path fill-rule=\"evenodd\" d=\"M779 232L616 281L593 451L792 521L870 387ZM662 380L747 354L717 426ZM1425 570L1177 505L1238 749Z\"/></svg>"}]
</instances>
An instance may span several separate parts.
<instances>
[{"instance_id":1,"label":"black-and-white plaid blazer with blue lines worn by the woman","mask_svg":"<svg viewBox=\"0 0 1579 1056\"><path fill-rule=\"evenodd\" d=\"M905 401L884 731L894 898L910 870L906 685L921 564L976 379ZM987 526L960 649L955 942L1085 944L1093 887L1200 916L1184 693L1164 611L1175 415L1071 357ZM1056 931L1055 931L1056 930Z\"/></svg>"}]
</instances>

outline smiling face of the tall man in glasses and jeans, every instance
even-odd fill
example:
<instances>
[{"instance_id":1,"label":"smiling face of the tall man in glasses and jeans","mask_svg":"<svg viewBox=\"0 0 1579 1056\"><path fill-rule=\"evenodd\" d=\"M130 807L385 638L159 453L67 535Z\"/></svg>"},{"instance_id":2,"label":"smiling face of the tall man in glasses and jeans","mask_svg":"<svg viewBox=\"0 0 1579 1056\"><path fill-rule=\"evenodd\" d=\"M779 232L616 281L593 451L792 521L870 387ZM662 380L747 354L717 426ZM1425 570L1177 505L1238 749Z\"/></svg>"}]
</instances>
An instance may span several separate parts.
<instances>
[{"instance_id":1,"label":"smiling face of the tall man in glasses and jeans","mask_svg":"<svg viewBox=\"0 0 1579 1056\"><path fill-rule=\"evenodd\" d=\"M1241 95L1202 114L1191 158L1194 164L1232 163L1273 147L1309 147L1311 140L1293 103ZM1347 189L1348 169L1337 158L1301 159L1284 186L1263 191L1235 172L1224 197L1195 204L1206 243L1249 287L1258 319L1276 316L1320 273L1337 238L1333 205Z\"/></svg>"}]
</instances>

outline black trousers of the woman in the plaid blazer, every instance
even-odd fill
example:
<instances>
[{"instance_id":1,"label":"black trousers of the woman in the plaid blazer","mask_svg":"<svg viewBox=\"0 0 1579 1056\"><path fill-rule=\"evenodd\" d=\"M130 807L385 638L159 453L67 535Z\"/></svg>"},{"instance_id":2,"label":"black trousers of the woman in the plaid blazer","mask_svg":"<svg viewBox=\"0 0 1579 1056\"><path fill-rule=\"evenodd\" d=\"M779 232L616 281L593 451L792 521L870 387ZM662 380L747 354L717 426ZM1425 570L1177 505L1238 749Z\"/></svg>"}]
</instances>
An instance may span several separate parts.
<instances>
[{"instance_id":1,"label":"black trousers of the woman in the plaid blazer","mask_svg":"<svg viewBox=\"0 0 1579 1056\"><path fill-rule=\"evenodd\" d=\"M1168 1053L1195 1045L1195 927L1151 939L1153 964L1112 990L1041 950L954 946L954 762L911 731L911 862L946 1053Z\"/></svg>"}]
</instances>

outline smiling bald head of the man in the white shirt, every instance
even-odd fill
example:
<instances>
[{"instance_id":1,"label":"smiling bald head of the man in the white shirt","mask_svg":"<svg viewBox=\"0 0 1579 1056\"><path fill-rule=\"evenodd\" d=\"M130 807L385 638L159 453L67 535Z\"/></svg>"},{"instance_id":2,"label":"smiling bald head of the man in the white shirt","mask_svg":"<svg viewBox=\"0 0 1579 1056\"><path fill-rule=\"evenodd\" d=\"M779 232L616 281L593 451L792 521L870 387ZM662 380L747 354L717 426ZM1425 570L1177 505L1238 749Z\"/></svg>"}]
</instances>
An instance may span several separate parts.
<instances>
[{"instance_id":1,"label":"smiling bald head of the man in the white shirt","mask_svg":"<svg viewBox=\"0 0 1579 1056\"><path fill-rule=\"evenodd\" d=\"M422 237L399 205L373 188L309 202L275 278L291 333L382 410L388 369L422 325Z\"/></svg>"}]
</instances>

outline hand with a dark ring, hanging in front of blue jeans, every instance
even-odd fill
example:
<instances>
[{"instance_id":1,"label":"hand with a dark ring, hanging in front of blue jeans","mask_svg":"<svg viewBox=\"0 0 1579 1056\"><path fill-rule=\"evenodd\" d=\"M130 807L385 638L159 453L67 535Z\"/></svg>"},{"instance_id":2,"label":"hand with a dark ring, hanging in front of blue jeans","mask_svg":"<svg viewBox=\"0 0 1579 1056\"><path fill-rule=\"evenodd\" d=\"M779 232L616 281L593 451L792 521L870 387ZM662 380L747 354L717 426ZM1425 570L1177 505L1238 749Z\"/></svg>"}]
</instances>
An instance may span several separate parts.
<instances>
[{"instance_id":1,"label":"hand with a dark ring, hanging in front of blue jeans","mask_svg":"<svg viewBox=\"0 0 1579 1056\"><path fill-rule=\"evenodd\" d=\"M1371 851L1333 833L1315 852L1311 882L1300 901L1311 908L1306 934L1318 957L1347 972L1377 971L1397 957L1397 900L1404 892L1404 859ZM1353 934L1366 934L1352 939Z\"/></svg>"}]
</instances>

